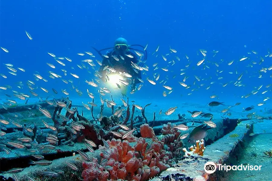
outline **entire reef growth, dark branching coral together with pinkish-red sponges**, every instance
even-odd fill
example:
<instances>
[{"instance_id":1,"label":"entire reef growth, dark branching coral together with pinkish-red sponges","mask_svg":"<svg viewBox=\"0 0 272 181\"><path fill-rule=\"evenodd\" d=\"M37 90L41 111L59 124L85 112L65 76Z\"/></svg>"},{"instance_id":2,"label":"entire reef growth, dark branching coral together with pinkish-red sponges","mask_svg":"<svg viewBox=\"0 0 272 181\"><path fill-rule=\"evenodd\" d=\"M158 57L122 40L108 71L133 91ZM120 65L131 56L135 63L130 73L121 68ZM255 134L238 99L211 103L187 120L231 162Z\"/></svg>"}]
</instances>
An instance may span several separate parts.
<instances>
[{"instance_id":1,"label":"entire reef growth, dark branching coral together with pinkish-red sponges","mask_svg":"<svg viewBox=\"0 0 272 181\"><path fill-rule=\"evenodd\" d=\"M102 116L103 101L107 103L108 108L111 108L112 116ZM46 144L50 148L54 148L51 147L52 145L74 146L76 142L83 141L86 141L86 143L90 141L93 143L90 144L92 146L95 144L94 148L88 147L88 149L92 152L94 152L93 149L98 149L101 157L89 157L85 159L87 161L83 161L81 175L84 181L96 179L100 181L147 180L173 166L183 155L183 141L180 139L181 130L174 128L169 122L164 125L160 122L159 128L157 126L154 129L160 129L161 135L155 135L153 126L157 124L157 121L155 122L156 113L154 112L153 121L150 122L145 116L145 108L150 104L144 106L141 110L141 116L134 118L135 105L132 105L132 110L130 110L128 100L126 116L123 116L122 113L125 109L122 109L121 106L114 109L113 106L116 104L113 98L111 101L101 98L100 114L94 116L94 99L92 99L92 102L88 102L91 106L83 103L83 106L91 111L90 119L87 119L83 115L85 108L79 113L78 107L72 108L72 101L69 100L69 97L60 100L46 100L46 102L49 106L46 105L43 108L39 106L40 112L47 117L42 121L43 125L37 124L34 127L24 125L25 129L31 128L32 140L36 139L37 141L38 139L38 144L49 142L51 145ZM63 113L63 108L65 113ZM53 124L48 121L49 119L52 119ZM144 122L144 124L137 125L138 122ZM37 131L42 132L42 134L39 134L39 132L37 134ZM137 134L133 135L133 132L137 132ZM61 150L58 151L61 152Z\"/></svg>"}]
</instances>

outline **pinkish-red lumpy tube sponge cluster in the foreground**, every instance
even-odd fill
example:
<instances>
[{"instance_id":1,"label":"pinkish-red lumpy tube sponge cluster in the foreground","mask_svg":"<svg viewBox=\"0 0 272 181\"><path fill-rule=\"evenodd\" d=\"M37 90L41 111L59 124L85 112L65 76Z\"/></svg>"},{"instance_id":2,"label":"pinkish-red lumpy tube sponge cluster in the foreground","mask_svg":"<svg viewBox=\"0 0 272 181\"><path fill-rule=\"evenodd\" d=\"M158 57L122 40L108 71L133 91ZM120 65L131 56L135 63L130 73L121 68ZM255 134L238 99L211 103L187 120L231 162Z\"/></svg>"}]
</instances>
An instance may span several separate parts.
<instances>
[{"instance_id":1,"label":"pinkish-red lumpy tube sponge cluster in the foreground","mask_svg":"<svg viewBox=\"0 0 272 181\"><path fill-rule=\"evenodd\" d=\"M92 163L83 163L83 180L92 181L98 177L100 181L108 179L142 181L169 168L172 165L172 151L176 151L175 145L180 144L180 141L175 142L180 132L175 131L170 123L164 126L161 140L155 136L148 124L141 125L140 132L142 136L140 138L132 135L127 138L137 140L134 146L131 146L128 140L121 141L115 138L107 141L108 146L99 145L101 160L93 159ZM121 131L120 133L124 134ZM150 138L152 142L147 148ZM105 172L103 168L108 171Z\"/></svg>"}]
</instances>

